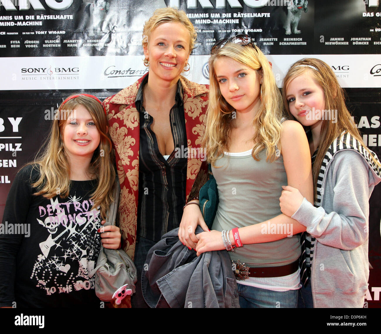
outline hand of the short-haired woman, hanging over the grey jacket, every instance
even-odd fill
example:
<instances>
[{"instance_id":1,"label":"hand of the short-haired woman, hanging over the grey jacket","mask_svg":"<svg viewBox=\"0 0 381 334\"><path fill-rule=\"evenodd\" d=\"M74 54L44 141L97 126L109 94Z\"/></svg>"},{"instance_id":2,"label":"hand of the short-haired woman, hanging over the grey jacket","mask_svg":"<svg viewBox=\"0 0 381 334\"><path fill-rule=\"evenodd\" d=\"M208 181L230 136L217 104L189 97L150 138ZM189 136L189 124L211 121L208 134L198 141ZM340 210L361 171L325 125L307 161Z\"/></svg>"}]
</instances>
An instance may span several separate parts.
<instances>
[{"instance_id":1,"label":"hand of the short-haired woman, hanging over the grey jacket","mask_svg":"<svg viewBox=\"0 0 381 334\"><path fill-rule=\"evenodd\" d=\"M194 233L197 225L200 225L204 231L209 231L202 217L199 203L195 203L197 204L190 204L184 208L178 232L180 241L189 249L195 249L199 241Z\"/></svg>"}]
</instances>

